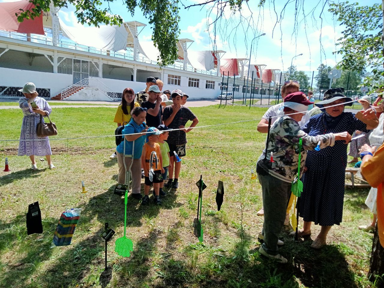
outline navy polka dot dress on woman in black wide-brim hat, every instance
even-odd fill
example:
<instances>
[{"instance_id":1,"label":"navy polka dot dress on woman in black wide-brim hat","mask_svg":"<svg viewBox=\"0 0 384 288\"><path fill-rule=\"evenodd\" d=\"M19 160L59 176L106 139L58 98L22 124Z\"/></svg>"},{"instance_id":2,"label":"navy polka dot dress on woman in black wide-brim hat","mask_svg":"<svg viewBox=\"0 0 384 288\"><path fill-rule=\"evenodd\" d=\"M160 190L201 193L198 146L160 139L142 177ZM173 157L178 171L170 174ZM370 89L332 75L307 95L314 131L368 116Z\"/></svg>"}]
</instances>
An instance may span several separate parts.
<instances>
[{"instance_id":1,"label":"navy polka dot dress on woman in black wide-brim hat","mask_svg":"<svg viewBox=\"0 0 384 288\"><path fill-rule=\"evenodd\" d=\"M303 130L310 136L348 131L353 134L359 130L367 132L366 124L344 112L339 123L333 128L323 124L324 113L311 117ZM301 193L299 215L306 222L321 226L340 225L343 217L345 168L347 166L347 147L344 141L336 141L320 151L308 151L305 166L308 170L301 179L304 184Z\"/></svg>"}]
</instances>

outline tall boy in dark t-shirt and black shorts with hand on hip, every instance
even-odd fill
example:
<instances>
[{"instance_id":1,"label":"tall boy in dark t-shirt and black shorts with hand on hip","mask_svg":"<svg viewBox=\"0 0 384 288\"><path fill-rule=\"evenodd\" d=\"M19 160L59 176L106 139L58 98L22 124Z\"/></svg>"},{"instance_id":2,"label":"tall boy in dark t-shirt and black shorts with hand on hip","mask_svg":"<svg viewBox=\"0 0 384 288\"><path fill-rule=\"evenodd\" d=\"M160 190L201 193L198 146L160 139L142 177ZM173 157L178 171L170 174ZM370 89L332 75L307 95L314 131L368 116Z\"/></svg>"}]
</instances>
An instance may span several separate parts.
<instances>
[{"instance_id":1,"label":"tall boy in dark t-shirt and black shorts with hand on hip","mask_svg":"<svg viewBox=\"0 0 384 288\"><path fill-rule=\"evenodd\" d=\"M195 114L190 111L189 108L183 106L183 92L179 89L175 89L171 93L172 102L171 106L164 108L163 122L171 129L182 129L176 131L169 131L169 137L167 143L170 150L170 168L169 168L169 181L166 184L166 188L177 189L179 187L179 174L181 168L181 161L177 162L174 152L177 156L185 156L185 144L187 144L187 137L185 133L192 130L193 127L199 123L199 120ZM192 121L189 128L185 128L184 125L188 121ZM175 170L175 179L172 179L173 171Z\"/></svg>"}]
</instances>

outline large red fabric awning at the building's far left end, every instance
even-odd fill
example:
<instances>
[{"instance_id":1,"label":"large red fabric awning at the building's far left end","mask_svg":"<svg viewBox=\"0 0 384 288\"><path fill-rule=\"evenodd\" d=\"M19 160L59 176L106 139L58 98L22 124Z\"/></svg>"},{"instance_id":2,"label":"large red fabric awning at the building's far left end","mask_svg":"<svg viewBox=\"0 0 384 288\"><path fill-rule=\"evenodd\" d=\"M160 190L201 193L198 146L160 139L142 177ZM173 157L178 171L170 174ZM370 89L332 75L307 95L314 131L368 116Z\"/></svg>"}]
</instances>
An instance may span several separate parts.
<instances>
[{"instance_id":1,"label":"large red fabric awning at the building's far left end","mask_svg":"<svg viewBox=\"0 0 384 288\"><path fill-rule=\"evenodd\" d=\"M16 13L31 10L35 5L29 0L17 2L0 3L0 29L7 31L16 31L19 33L44 35L43 14L32 19L24 19L23 22L17 21Z\"/></svg>"}]
</instances>

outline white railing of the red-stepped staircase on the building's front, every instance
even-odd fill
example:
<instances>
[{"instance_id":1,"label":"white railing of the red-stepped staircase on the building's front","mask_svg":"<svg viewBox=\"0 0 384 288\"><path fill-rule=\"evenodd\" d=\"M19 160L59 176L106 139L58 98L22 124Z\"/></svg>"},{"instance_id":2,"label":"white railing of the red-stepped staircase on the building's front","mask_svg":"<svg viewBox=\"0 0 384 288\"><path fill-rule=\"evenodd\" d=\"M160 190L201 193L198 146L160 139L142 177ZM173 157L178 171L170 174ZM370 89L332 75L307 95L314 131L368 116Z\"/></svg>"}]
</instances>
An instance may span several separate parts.
<instances>
[{"instance_id":1,"label":"white railing of the red-stepped staircase on the building's front","mask_svg":"<svg viewBox=\"0 0 384 288\"><path fill-rule=\"evenodd\" d=\"M79 91L82 89L87 88L87 89L94 89L94 90L99 90L103 92L109 99L113 101L118 101L121 99L119 97L118 93L112 91L111 88L109 88L106 84L101 82L99 79L96 78L84 78L83 80L79 81L78 83L75 83L68 88L65 88L61 91L61 97L60 99L63 100Z\"/></svg>"}]
</instances>

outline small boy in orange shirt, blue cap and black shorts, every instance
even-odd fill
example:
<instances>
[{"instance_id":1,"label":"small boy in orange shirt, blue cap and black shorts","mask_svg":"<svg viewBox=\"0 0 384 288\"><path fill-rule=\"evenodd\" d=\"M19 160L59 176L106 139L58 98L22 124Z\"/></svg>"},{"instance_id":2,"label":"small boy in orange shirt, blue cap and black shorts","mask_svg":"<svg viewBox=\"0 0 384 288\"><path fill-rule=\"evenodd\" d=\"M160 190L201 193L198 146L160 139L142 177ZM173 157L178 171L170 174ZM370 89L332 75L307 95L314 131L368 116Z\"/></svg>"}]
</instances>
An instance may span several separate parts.
<instances>
[{"instance_id":1,"label":"small boy in orange shirt, blue cap and black shorts","mask_svg":"<svg viewBox=\"0 0 384 288\"><path fill-rule=\"evenodd\" d=\"M162 133L159 129L155 127L149 127L147 132L148 142L144 144L143 150L141 153L141 167L144 169L144 197L141 200L142 205L149 203L149 188L153 184L153 190L155 192L154 203L161 205L161 199L159 196L160 183L163 182L162 173L164 173L164 168L162 166L162 157L160 151L159 135ZM151 165L151 155L152 152L156 153L152 156L152 165ZM152 180L149 178L150 170L152 169Z\"/></svg>"}]
</instances>

